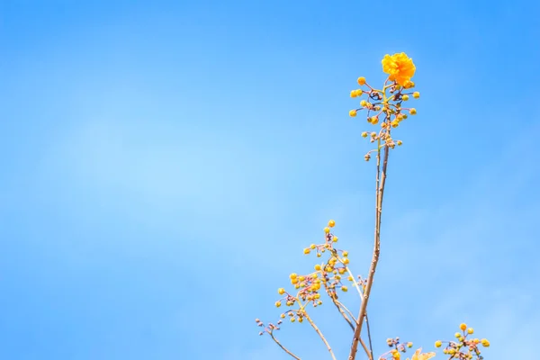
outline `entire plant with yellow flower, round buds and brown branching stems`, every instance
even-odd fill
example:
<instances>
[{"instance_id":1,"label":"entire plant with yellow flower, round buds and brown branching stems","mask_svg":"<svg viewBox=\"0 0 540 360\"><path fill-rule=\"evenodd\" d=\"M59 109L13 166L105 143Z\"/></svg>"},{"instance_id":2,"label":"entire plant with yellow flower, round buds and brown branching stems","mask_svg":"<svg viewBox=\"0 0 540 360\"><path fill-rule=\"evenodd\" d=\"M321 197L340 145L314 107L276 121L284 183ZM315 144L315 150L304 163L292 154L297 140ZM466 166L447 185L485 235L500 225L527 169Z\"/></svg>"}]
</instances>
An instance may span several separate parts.
<instances>
[{"instance_id":1,"label":"entire plant with yellow flower, round buds and brown branching stems","mask_svg":"<svg viewBox=\"0 0 540 360\"><path fill-rule=\"evenodd\" d=\"M376 163L374 250L367 275L355 275L350 266L349 252L338 247L338 236L333 231L336 221L329 220L327 226L322 229L321 241L303 249L305 256L315 256L317 259L311 271L302 274L292 273L289 275L290 290L285 286L277 289L280 298L275 302L275 307L282 308L284 305L285 308L280 315L280 320L268 324L259 319L256 320L257 326L262 328L259 335L269 335L277 346L296 360L301 359L296 353L297 350L285 347L276 338L277 331L281 329L286 319L292 324L309 323L327 348L329 356L337 360L334 348L330 346L322 329L311 317L312 311L323 305L323 296L329 299L330 306L338 311L338 317L345 320L353 333L352 343L350 338L344 340L345 344L351 344L347 360L356 359L359 346L364 349L369 360L375 359L367 305L381 253L381 218L388 159L391 150L403 144L401 139L394 138L396 128L399 128L410 116L417 114L416 108L410 107L408 103L420 97L418 91L412 90L415 87L412 77L416 72L412 58L404 52L385 55L382 65L383 72L388 75L382 88L378 89L369 85L365 77L361 76L356 80L360 87L350 92L351 98L360 99L360 106L350 110L349 115L355 118L358 112L365 112L365 119L371 127L371 130L366 130L361 134L362 138L368 139L372 144L372 149L365 154L364 158L369 161L374 157ZM347 293L357 293L360 298L359 310L356 313L350 311L343 302L342 297L345 297ZM362 333L364 325L366 334ZM468 338L473 334L473 329L467 328L465 324L461 324L460 329L461 332L455 333L456 340L446 341L447 345L443 354L449 356L449 359L482 360L479 347L489 347L490 342L485 338L482 340ZM411 342L401 342L400 338L389 338L386 343L390 350L379 356L379 360L400 360L401 354L406 353L413 346ZM442 346L443 341L435 342L435 347ZM421 351L421 348L417 349L407 360L429 360L436 356L434 352L422 353Z\"/></svg>"}]
</instances>

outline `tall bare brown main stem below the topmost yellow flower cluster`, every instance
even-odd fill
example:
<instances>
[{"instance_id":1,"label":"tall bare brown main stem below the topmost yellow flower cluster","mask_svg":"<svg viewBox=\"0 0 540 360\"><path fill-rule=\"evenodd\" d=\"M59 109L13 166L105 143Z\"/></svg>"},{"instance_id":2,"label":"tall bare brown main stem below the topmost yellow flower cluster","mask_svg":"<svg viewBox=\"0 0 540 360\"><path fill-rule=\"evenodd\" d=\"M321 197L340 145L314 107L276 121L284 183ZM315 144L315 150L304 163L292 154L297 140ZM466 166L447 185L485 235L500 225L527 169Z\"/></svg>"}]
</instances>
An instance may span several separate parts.
<instances>
[{"instance_id":1,"label":"tall bare brown main stem below the topmost yellow flower cluster","mask_svg":"<svg viewBox=\"0 0 540 360\"><path fill-rule=\"evenodd\" d=\"M381 252L381 214L383 213L383 194L384 184L386 182L386 168L388 166L388 154L389 147L384 145L383 155L383 171L381 171L381 150L377 151L377 178L375 185L376 201L375 201L375 234L374 234L374 254L372 257L372 263L369 268L369 274L367 276L367 284L365 284L364 299L362 299L362 305L360 306L360 312L356 323L358 324L355 329L355 335L353 336L353 344L351 345L351 352L349 353L348 360L355 360L356 350L358 348L358 342L362 335L362 325L364 325L365 311L367 310L367 302L369 301L369 294L374 284L375 270L379 263L379 254ZM369 356L369 355L368 355Z\"/></svg>"}]
</instances>

